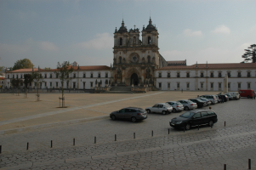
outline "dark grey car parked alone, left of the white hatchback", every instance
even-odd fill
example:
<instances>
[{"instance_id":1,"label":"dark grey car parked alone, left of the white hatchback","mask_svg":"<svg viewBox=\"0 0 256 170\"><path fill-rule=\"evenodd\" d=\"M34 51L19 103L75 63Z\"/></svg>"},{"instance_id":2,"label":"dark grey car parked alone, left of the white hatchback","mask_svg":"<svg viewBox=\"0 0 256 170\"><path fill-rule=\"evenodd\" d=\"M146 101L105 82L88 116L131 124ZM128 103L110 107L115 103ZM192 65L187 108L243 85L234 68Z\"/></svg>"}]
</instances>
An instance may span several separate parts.
<instances>
[{"instance_id":1,"label":"dark grey car parked alone, left of the white hatchback","mask_svg":"<svg viewBox=\"0 0 256 170\"><path fill-rule=\"evenodd\" d=\"M113 111L110 114L110 117L113 121L116 119L129 119L132 122L137 120L143 120L147 118L146 111L138 107L126 107L120 111Z\"/></svg>"}]
</instances>

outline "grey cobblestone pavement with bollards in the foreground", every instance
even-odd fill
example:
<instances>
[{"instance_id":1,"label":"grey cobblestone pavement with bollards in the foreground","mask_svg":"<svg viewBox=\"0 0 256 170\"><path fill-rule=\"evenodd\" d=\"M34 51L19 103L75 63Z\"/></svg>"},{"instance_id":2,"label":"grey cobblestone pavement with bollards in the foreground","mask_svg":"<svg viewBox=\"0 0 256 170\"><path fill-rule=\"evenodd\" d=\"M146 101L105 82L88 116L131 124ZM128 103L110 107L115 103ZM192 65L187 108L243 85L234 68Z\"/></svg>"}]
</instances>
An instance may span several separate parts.
<instances>
[{"instance_id":1,"label":"grey cobblestone pavement with bollards in the foreground","mask_svg":"<svg viewBox=\"0 0 256 170\"><path fill-rule=\"evenodd\" d=\"M167 116L142 122L103 119L1 136L3 169L247 169L256 168L255 100L211 105L219 122L185 133ZM224 126L226 122L226 127ZM168 134L169 129L169 134ZM152 135L153 130L153 137ZM135 133L135 139L134 139ZM117 134L117 141L115 140ZM96 136L96 144L94 137ZM73 139L76 145L73 146ZM53 140L53 148L50 148ZM26 143L29 142L29 150Z\"/></svg>"}]
</instances>

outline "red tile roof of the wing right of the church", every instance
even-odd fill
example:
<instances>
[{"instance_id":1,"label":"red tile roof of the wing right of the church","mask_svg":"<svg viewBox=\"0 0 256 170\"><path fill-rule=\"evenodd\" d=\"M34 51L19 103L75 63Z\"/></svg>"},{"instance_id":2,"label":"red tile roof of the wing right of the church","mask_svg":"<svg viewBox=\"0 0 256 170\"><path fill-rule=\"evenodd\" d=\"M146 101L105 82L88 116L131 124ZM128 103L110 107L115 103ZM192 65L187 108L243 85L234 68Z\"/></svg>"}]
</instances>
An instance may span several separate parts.
<instances>
[{"instance_id":1,"label":"red tile roof of the wing right of the church","mask_svg":"<svg viewBox=\"0 0 256 170\"><path fill-rule=\"evenodd\" d=\"M215 63L215 64L196 64L195 65L170 65L159 70L179 70L179 69L256 69L256 63Z\"/></svg>"}]
</instances>

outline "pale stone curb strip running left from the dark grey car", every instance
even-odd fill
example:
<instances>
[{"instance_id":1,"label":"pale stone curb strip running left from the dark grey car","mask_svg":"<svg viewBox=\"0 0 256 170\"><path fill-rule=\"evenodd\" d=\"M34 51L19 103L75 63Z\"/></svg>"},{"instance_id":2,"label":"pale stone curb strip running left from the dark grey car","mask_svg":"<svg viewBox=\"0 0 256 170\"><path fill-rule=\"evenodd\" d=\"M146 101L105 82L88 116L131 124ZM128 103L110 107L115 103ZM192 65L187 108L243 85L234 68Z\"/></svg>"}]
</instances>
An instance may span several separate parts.
<instances>
[{"instance_id":1,"label":"pale stone curb strip running left from the dark grey car","mask_svg":"<svg viewBox=\"0 0 256 170\"><path fill-rule=\"evenodd\" d=\"M63 126L63 125L70 125L70 124L80 123L80 122L97 121L97 120L106 119L106 118L109 118L109 117L110 116L97 116L97 117L76 119L76 120L65 121L65 122L53 122L53 123L35 125L35 126L30 126L30 127L11 128L11 129L0 131L0 135L10 134L10 133L20 133L20 132L25 132L25 131L29 131L29 130L35 130L35 129L38 129L38 128L59 127L59 126Z\"/></svg>"}]
</instances>

